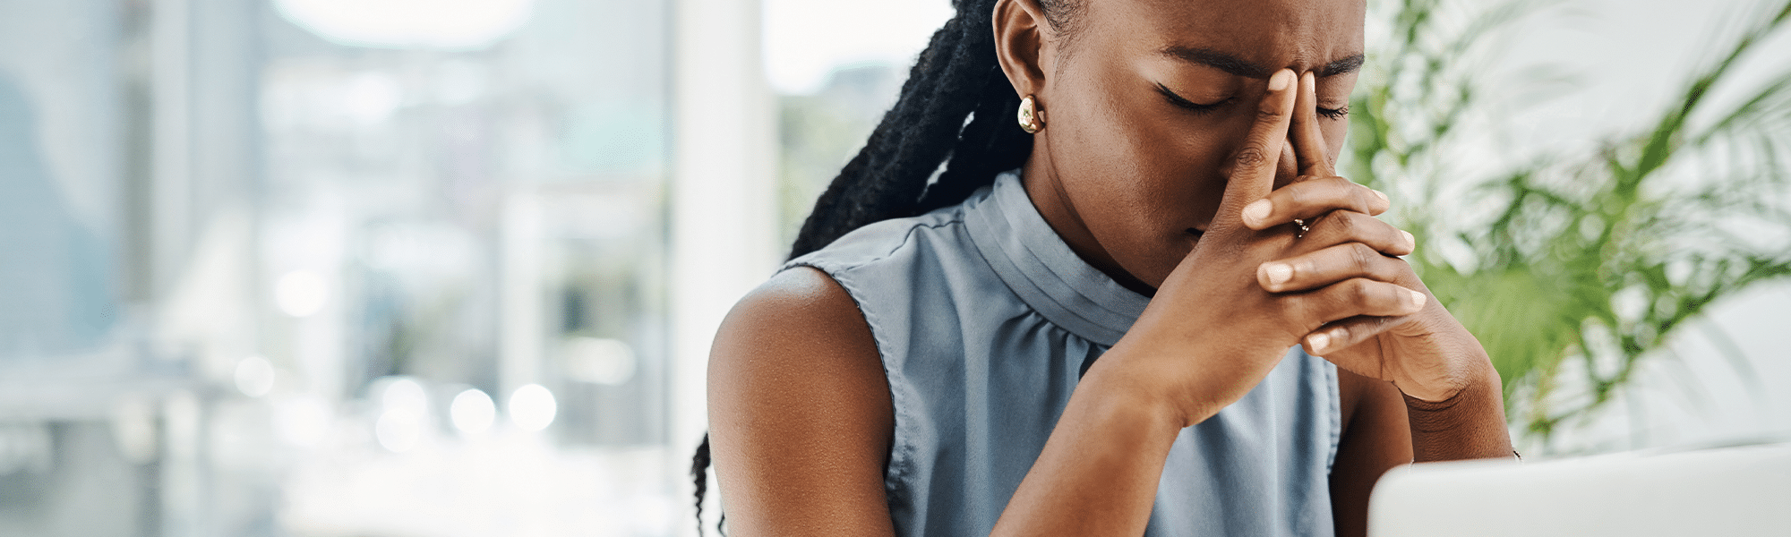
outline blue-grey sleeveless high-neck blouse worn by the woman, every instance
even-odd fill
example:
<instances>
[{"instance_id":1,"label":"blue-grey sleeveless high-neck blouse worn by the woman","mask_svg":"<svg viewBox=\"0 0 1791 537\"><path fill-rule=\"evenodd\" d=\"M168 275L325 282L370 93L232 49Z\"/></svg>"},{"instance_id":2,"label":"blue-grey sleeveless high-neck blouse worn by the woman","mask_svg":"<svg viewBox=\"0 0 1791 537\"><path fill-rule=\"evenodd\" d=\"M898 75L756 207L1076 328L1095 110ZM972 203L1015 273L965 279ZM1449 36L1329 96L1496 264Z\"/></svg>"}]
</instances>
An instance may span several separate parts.
<instances>
[{"instance_id":1,"label":"blue-grey sleeveless high-neck blouse worn by the woman","mask_svg":"<svg viewBox=\"0 0 1791 537\"><path fill-rule=\"evenodd\" d=\"M790 261L858 303L888 374L897 535L989 535L1093 360L1144 311L1069 251L1015 172ZM1298 347L1182 430L1144 535L1333 535L1336 369Z\"/></svg>"}]
</instances>

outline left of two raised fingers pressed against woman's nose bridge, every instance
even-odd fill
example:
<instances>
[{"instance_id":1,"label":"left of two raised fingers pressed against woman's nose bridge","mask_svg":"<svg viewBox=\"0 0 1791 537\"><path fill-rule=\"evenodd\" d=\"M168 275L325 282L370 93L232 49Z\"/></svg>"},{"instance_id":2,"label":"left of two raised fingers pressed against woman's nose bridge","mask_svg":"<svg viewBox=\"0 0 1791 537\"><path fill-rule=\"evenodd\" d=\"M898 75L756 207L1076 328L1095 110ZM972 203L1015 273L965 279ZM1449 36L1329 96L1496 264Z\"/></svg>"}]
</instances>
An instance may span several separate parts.
<instances>
[{"instance_id":1,"label":"left of two raised fingers pressed against woman's nose bridge","mask_svg":"<svg viewBox=\"0 0 1791 537\"><path fill-rule=\"evenodd\" d=\"M1293 120L1293 86L1291 70L1281 70L1268 77L1268 93L1257 104L1255 124L1250 125L1250 134L1245 134L1243 145L1232 154L1230 179L1225 183L1220 215L1238 215L1245 204L1259 200L1273 190L1275 166L1281 163L1288 124Z\"/></svg>"}]
</instances>

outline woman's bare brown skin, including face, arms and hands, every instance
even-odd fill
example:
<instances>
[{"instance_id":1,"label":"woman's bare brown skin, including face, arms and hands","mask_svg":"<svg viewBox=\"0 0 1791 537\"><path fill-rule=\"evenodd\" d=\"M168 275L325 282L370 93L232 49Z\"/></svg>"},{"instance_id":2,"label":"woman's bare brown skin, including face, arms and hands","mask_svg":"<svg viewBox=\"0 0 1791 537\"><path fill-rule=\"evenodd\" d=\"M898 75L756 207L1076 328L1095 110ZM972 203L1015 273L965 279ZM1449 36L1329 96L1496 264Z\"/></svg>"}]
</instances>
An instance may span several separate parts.
<instances>
[{"instance_id":1,"label":"woman's bare brown skin, including face, arms and hands","mask_svg":"<svg viewBox=\"0 0 1791 537\"><path fill-rule=\"evenodd\" d=\"M996 5L1001 68L1048 111L1026 192L1076 254L1153 299L1082 378L994 533L1141 533L1175 433L1297 344L1340 367L1340 535L1365 533L1393 465L1510 456L1485 351L1393 258L1415 245L1370 217L1386 199L1333 172L1347 122L1318 111L1354 86L1361 2L1087 0L1076 16L1066 50L1033 0ZM892 533L888 383L826 274L783 272L734 308L709 417L731 535Z\"/></svg>"}]
</instances>

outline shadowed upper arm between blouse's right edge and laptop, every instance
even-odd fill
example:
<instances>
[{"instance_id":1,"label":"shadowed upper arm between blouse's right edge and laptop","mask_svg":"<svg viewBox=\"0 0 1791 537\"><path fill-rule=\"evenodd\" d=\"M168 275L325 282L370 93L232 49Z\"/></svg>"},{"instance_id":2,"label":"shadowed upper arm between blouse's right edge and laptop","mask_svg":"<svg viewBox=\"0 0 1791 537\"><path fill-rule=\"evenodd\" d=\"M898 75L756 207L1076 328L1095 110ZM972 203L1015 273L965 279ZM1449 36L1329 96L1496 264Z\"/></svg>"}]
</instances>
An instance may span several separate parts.
<instances>
[{"instance_id":1,"label":"shadowed upper arm between blouse's right edge and laptop","mask_svg":"<svg viewBox=\"0 0 1791 537\"><path fill-rule=\"evenodd\" d=\"M1406 401L1392 383L1338 369L1343 435L1331 465L1331 514L1340 537L1367 535L1368 492L1388 469L1411 462Z\"/></svg>"}]
</instances>

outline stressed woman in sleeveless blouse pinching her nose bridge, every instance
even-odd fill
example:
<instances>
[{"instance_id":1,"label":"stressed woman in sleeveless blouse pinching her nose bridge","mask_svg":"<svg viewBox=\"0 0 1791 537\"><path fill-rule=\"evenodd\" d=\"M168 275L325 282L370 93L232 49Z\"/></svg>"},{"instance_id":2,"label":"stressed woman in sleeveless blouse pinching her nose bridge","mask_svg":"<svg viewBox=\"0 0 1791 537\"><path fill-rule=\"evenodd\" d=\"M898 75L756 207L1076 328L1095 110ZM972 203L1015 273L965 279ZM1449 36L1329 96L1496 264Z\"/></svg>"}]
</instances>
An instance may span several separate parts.
<instances>
[{"instance_id":1,"label":"stressed woman in sleeveless blouse pinching her nose bridge","mask_svg":"<svg viewBox=\"0 0 1791 537\"><path fill-rule=\"evenodd\" d=\"M1512 455L1333 172L1361 0L956 7L716 335L733 535L1361 535L1386 469Z\"/></svg>"}]
</instances>

